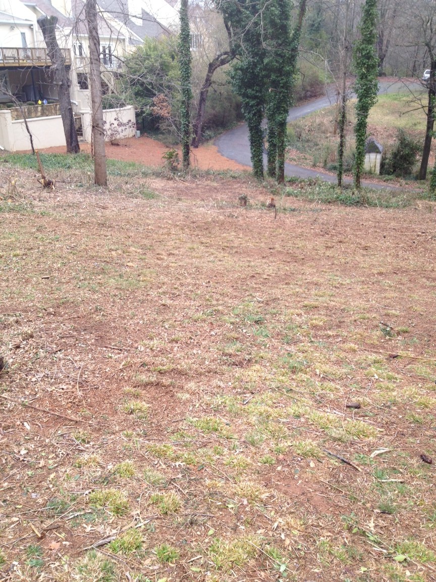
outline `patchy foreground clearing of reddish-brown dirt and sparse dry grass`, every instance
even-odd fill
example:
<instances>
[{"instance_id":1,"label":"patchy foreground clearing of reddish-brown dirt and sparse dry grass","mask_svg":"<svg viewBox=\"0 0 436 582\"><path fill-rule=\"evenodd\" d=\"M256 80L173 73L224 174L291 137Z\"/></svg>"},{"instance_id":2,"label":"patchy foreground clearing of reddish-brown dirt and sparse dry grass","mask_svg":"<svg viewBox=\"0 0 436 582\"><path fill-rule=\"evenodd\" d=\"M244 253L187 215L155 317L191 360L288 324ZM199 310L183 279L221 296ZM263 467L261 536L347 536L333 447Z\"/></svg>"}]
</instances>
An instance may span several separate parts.
<instances>
[{"instance_id":1,"label":"patchy foreground clearing of reddish-brown dirt and sparse dry grass","mask_svg":"<svg viewBox=\"0 0 436 582\"><path fill-rule=\"evenodd\" d=\"M0 178L0 579L436 580L434 204Z\"/></svg>"}]
</instances>

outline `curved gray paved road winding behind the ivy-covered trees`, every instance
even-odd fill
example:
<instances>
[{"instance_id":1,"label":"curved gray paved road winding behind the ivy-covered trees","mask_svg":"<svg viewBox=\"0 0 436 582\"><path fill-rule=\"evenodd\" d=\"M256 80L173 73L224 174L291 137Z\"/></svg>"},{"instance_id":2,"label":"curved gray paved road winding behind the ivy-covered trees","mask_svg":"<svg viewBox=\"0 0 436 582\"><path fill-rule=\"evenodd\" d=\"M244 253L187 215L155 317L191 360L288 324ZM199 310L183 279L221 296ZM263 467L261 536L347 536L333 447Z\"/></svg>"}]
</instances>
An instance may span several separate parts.
<instances>
[{"instance_id":1,"label":"curved gray paved road winding behind the ivy-covered trees","mask_svg":"<svg viewBox=\"0 0 436 582\"><path fill-rule=\"evenodd\" d=\"M386 93L405 93L406 91L423 91L423 86L418 81L407 82L406 81L380 81L380 87L378 94ZM354 96L354 95L353 95ZM319 109L324 109L333 105L335 102L335 91L333 87L329 87L325 97L321 97L316 101L311 101L306 105L300 105L299 107L292 107L288 115L288 122L295 119L299 119L312 113L318 111ZM250 155L250 143L248 139L248 127L240 125L234 129L230 129L228 132L221 134L215 140L215 145L218 147L218 151L225 158L232 159L239 164L245 166L252 166L251 155ZM267 156L263 154L263 165L266 167ZM315 170L310 170L308 168L303 168L302 166L295 166L293 164L285 164L285 176L296 176L297 178L322 178L326 182L336 183L336 176L327 174L325 172L317 172ZM345 182L350 182L351 180L344 180ZM363 182L364 184L364 182ZM385 188L382 184L367 183L371 188ZM392 186L391 186L392 189Z\"/></svg>"}]
</instances>

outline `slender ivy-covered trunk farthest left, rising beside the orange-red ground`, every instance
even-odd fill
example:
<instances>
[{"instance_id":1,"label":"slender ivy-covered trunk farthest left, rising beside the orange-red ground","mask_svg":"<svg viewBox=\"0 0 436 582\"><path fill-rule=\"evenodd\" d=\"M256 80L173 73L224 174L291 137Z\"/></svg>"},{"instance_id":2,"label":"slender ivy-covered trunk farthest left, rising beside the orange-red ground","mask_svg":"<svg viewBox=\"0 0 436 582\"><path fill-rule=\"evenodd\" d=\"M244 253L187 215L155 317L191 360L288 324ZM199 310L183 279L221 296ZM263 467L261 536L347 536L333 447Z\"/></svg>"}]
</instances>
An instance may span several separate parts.
<instances>
[{"instance_id":1,"label":"slender ivy-covered trunk farthest left, rising beside the orange-red ground","mask_svg":"<svg viewBox=\"0 0 436 582\"><path fill-rule=\"evenodd\" d=\"M188 18L188 0L180 2L180 34L178 36L178 64L180 66L181 85L181 142L183 169L190 165L191 141L191 33Z\"/></svg>"}]
</instances>

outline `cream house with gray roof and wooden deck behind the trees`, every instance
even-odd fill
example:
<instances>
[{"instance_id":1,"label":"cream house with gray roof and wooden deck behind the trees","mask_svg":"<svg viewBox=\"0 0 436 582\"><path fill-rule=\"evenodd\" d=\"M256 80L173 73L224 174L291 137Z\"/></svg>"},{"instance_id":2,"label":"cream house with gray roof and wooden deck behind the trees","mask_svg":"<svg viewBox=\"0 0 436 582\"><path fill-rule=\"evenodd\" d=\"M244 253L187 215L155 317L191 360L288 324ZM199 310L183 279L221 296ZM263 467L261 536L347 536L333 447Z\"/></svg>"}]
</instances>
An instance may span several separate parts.
<instances>
[{"instance_id":1,"label":"cream house with gray roof and wooden deck behind the trees","mask_svg":"<svg viewBox=\"0 0 436 582\"><path fill-rule=\"evenodd\" d=\"M98 12L103 88L113 92L124 56L144 38L176 30L178 11L166 0L101 0ZM89 41L84 0L0 0L0 103L10 101L10 94L22 102L58 97L36 22L43 15L58 18L58 42L70 70L73 105L77 110L87 108Z\"/></svg>"}]
</instances>

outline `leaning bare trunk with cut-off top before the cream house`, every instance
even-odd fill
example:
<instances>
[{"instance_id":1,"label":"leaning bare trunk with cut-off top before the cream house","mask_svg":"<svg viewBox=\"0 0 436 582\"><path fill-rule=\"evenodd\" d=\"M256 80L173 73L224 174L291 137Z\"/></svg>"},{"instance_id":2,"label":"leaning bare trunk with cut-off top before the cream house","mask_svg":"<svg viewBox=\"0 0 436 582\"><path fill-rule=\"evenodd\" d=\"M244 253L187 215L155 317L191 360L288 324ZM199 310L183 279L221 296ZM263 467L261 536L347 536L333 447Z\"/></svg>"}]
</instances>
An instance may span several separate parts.
<instances>
[{"instance_id":1,"label":"leaning bare trunk with cut-off top before the cream house","mask_svg":"<svg viewBox=\"0 0 436 582\"><path fill-rule=\"evenodd\" d=\"M65 59L56 39L56 24L58 23L58 19L56 16L40 16L37 23L42 31L42 36L44 36L44 42L47 45L48 56L52 62L52 70L55 72L55 83L58 86L60 116L62 117L67 153L78 154L80 147L78 145L70 99L70 80L65 68Z\"/></svg>"}]
</instances>

